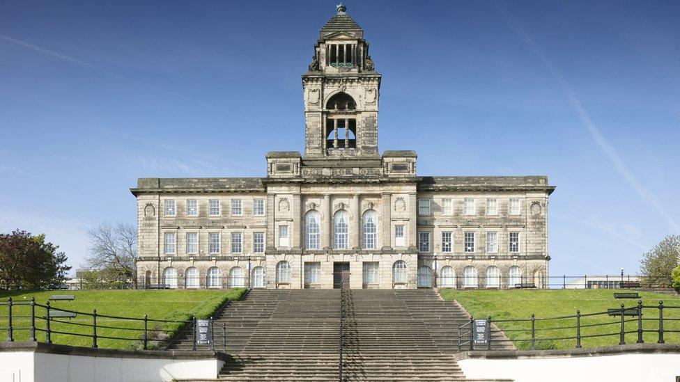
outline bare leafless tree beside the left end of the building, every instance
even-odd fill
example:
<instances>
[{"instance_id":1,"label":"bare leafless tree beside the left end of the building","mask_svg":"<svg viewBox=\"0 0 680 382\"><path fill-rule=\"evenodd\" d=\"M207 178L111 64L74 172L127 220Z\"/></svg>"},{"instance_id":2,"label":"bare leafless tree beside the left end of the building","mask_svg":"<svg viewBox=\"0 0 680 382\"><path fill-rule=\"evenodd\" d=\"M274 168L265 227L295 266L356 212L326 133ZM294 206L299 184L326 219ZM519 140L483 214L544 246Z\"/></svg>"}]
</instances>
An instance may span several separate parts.
<instances>
[{"instance_id":1,"label":"bare leafless tree beside the left end of the building","mask_svg":"<svg viewBox=\"0 0 680 382\"><path fill-rule=\"evenodd\" d=\"M137 230L134 225L101 223L88 230L90 239L86 266L101 271L117 281L136 282L134 260L137 259Z\"/></svg>"}]
</instances>

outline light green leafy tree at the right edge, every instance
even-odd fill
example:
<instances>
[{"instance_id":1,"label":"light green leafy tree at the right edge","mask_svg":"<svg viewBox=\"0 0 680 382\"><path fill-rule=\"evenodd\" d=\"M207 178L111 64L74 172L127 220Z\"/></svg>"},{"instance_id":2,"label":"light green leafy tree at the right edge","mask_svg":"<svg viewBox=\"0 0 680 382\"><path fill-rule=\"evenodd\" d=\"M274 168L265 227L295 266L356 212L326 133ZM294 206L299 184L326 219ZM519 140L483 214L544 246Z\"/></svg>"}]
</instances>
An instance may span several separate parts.
<instances>
[{"instance_id":1,"label":"light green leafy tree at the right edge","mask_svg":"<svg viewBox=\"0 0 680 382\"><path fill-rule=\"evenodd\" d=\"M671 273L680 260L680 236L669 235L642 255L640 282L645 287L670 287Z\"/></svg>"}]
</instances>

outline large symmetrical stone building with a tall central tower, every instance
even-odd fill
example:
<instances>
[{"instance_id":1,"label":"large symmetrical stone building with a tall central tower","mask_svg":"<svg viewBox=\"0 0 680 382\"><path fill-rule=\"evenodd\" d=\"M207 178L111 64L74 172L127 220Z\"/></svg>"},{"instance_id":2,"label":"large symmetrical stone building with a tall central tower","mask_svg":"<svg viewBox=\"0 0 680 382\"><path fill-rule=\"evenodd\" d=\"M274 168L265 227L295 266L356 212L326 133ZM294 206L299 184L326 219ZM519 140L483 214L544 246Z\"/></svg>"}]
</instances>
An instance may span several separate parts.
<instances>
[{"instance_id":1,"label":"large symmetrical stone building with a tall central tower","mask_svg":"<svg viewBox=\"0 0 680 382\"><path fill-rule=\"evenodd\" d=\"M381 75L338 6L302 74L304 154L267 177L141 178L139 285L415 288L544 285L545 176L416 175L378 151Z\"/></svg>"}]
</instances>

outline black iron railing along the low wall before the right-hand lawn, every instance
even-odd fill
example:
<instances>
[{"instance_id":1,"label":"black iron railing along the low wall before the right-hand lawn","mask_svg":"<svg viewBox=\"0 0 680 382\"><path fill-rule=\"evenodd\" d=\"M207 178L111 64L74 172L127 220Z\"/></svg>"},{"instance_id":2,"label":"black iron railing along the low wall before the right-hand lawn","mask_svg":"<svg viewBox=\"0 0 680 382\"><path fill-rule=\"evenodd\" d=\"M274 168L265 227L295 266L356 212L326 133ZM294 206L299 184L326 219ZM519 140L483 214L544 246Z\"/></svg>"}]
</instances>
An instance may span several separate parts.
<instances>
[{"instance_id":1,"label":"black iron railing along the low wall before the right-hand lawn","mask_svg":"<svg viewBox=\"0 0 680 382\"><path fill-rule=\"evenodd\" d=\"M674 312L672 317L665 316L665 310L672 310ZM645 315L651 317L645 317ZM498 328L493 328L493 324ZM633 325L632 328L631 325ZM671 329L668 328L669 326ZM458 351L504 348L503 346L492 347L492 342L495 345L511 343L530 350L550 349L555 347L555 342L562 344L569 342L573 347L580 348L582 340L598 337L612 338L610 345L625 345L626 335L630 334L635 334L635 342L642 344L644 333L653 333L656 343L663 344L667 341L667 333L680 333L680 306L664 305L663 301L659 301L658 305L644 305L640 300L637 305L629 307L621 304L619 308L594 313L581 313L577 310L575 315L559 317L538 318L532 314L527 319L492 319L489 316L486 318L488 333L486 333L485 341L481 342L476 340L484 336L476 333L475 327L476 320L473 317L470 317L470 320L464 324L458 325ZM504 328L501 330L500 327ZM501 331L509 339L502 336L493 337L493 334ZM674 336L672 340L680 343L678 336Z\"/></svg>"}]
</instances>

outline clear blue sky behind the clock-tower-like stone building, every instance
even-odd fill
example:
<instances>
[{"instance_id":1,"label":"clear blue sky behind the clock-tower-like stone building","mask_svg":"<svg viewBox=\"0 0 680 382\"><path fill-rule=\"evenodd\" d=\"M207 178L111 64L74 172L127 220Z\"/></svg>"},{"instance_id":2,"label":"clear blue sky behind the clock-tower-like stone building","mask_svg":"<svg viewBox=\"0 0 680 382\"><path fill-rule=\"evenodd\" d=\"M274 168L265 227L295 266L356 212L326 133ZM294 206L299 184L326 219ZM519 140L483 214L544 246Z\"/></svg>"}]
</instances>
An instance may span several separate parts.
<instances>
[{"instance_id":1,"label":"clear blue sky behind the clock-tower-like stone building","mask_svg":"<svg viewBox=\"0 0 680 382\"><path fill-rule=\"evenodd\" d=\"M680 234L680 3L349 1L380 150L419 175L548 175L550 273L626 273ZM13 1L0 13L0 232L134 223L137 177L265 175L303 150L334 1Z\"/></svg>"}]
</instances>

